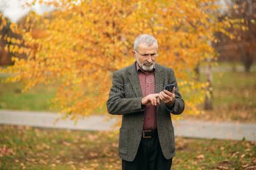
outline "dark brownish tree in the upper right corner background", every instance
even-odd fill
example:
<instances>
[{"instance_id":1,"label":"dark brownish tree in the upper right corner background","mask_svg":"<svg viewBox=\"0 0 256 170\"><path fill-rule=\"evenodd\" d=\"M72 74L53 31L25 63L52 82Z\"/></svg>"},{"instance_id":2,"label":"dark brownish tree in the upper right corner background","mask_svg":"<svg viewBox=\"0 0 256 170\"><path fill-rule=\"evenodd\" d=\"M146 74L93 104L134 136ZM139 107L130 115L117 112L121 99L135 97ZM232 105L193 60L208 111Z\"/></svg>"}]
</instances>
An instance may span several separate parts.
<instances>
[{"instance_id":1,"label":"dark brownish tree in the upper right corner background","mask_svg":"<svg viewBox=\"0 0 256 170\"><path fill-rule=\"evenodd\" d=\"M220 41L214 44L221 61L241 61L245 71L249 72L256 56L256 1L236 0L230 1L228 9L220 20L226 17L233 20L241 19L243 25L240 27L230 27L228 30L233 32L232 39L223 33L216 36Z\"/></svg>"}]
</instances>

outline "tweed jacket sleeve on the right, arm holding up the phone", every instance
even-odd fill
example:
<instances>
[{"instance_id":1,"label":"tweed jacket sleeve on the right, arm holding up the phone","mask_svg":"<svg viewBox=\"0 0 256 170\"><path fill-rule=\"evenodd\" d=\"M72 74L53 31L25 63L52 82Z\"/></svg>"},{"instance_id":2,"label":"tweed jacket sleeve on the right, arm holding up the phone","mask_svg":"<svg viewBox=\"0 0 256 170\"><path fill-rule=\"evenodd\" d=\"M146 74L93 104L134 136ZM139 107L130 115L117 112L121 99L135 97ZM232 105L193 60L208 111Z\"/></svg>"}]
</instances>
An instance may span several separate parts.
<instances>
[{"instance_id":1,"label":"tweed jacket sleeve on the right, arm holding up the phone","mask_svg":"<svg viewBox=\"0 0 256 170\"><path fill-rule=\"evenodd\" d=\"M185 104L184 104L184 101L183 101L183 99L181 97L181 94L179 92L179 87L177 86L177 80L176 80L176 77L174 75L174 70L173 69L170 70L169 76L170 76L169 83L174 84L174 86L175 86L175 103L171 107L168 107L166 105L166 108L172 114L181 114L185 109Z\"/></svg>"}]
</instances>

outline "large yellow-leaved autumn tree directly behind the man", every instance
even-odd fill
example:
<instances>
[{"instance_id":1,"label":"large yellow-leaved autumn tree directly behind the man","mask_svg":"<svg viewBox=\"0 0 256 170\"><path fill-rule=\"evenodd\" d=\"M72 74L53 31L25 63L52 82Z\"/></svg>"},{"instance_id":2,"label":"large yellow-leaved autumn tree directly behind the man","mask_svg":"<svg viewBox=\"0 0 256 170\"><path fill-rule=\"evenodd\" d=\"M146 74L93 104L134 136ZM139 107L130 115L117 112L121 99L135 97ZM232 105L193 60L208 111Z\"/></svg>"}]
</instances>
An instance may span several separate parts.
<instances>
[{"instance_id":1,"label":"large yellow-leaved autumn tree directly behind the man","mask_svg":"<svg viewBox=\"0 0 256 170\"><path fill-rule=\"evenodd\" d=\"M16 73L7 81L26 83L24 91L38 83L60 82L52 100L65 116L77 118L104 108L112 85L112 73L132 62L133 41L141 33L159 42L157 62L172 67L185 100L185 113L198 114L207 83L195 80L195 67L205 58L216 59L209 41L214 32L226 32L233 24L217 20L215 1L71 1L46 2L59 10L51 18L30 14L22 32L27 59L13 58L7 70ZM31 23L30 21L33 20ZM26 29L25 29L26 28ZM34 37L41 30L43 36ZM12 49L21 50L20 48Z\"/></svg>"}]
</instances>

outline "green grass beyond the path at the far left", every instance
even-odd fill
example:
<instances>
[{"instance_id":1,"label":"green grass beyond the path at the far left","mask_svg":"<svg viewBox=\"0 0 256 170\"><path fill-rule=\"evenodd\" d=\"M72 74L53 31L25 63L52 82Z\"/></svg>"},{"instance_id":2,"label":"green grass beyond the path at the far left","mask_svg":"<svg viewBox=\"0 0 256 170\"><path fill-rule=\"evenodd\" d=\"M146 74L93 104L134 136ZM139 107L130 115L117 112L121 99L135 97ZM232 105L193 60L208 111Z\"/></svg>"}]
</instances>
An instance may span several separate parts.
<instances>
[{"instance_id":1,"label":"green grass beyond the path at the far left","mask_svg":"<svg viewBox=\"0 0 256 170\"><path fill-rule=\"evenodd\" d=\"M3 78L0 78L0 82ZM0 83L0 109L28 111L49 111L49 100L55 96L56 84L38 84L35 88L22 93L23 86L19 82Z\"/></svg>"}]
</instances>

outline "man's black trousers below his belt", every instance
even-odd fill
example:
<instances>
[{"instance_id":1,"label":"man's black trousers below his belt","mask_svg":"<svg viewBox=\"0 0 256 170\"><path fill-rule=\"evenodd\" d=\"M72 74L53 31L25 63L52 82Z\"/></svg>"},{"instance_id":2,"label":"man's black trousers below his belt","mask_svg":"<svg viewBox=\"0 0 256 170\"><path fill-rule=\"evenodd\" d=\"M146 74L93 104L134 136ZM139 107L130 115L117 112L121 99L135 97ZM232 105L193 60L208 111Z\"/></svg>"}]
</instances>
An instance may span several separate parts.
<instances>
[{"instance_id":1,"label":"man's black trousers below his belt","mask_svg":"<svg viewBox=\"0 0 256 170\"><path fill-rule=\"evenodd\" d=\"M170 170L172 158L163 156L158 134L152 138L142 138L133 162L122 159L122 170Z\"/></svg>"}]
</instances>

